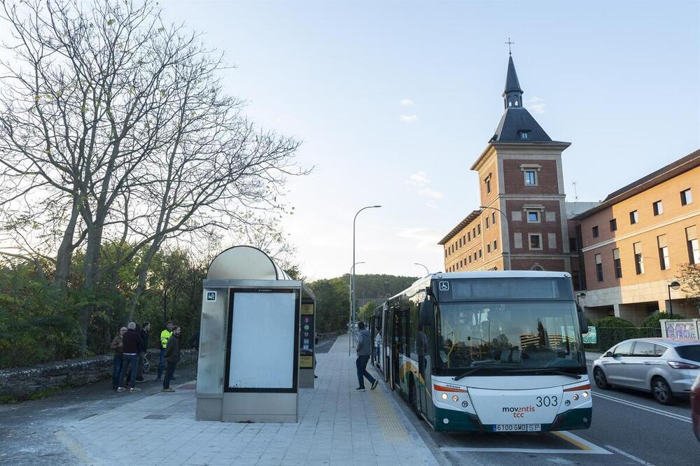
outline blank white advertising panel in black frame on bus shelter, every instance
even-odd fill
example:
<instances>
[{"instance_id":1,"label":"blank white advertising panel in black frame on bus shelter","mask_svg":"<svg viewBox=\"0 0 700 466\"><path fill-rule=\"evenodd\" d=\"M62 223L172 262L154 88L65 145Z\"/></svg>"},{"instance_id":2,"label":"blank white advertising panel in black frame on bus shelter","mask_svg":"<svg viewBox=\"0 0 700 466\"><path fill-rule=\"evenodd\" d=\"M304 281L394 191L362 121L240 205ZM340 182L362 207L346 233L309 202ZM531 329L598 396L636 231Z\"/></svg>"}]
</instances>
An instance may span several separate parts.
<instances>
[{"instance_id":1,"label":"blank white advertising panel in black frame on bus shelter","mask_svg":"<svg viewBox=\"0 0 700 466\"><path fill-rule=\"evenodd\" d=\"M297 299L295 292L233 292L228 388L294 388Z\"/></svg>"}]
</instances>

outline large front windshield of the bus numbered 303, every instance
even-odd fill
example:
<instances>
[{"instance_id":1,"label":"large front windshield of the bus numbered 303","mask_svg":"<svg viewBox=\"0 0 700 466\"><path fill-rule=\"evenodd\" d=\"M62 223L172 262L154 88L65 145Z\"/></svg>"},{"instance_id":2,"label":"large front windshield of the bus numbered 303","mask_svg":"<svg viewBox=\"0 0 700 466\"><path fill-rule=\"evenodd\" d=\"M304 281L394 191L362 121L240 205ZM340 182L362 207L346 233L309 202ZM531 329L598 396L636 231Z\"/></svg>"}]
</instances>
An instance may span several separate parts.
<instances>
[{"instance_id":1,"label":"large front windshield of the bus numbered 303","mask_svg":"<svg viewBox=\"0 0 700 466\"><path fill-rule=\"evenodd\" d=\"M513 369L585 374L573 302L454 302L437 309L437 370L517 375Z\"/></svg>"}]
</instances>

